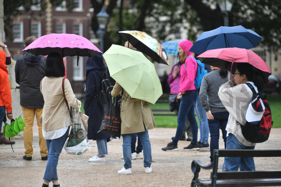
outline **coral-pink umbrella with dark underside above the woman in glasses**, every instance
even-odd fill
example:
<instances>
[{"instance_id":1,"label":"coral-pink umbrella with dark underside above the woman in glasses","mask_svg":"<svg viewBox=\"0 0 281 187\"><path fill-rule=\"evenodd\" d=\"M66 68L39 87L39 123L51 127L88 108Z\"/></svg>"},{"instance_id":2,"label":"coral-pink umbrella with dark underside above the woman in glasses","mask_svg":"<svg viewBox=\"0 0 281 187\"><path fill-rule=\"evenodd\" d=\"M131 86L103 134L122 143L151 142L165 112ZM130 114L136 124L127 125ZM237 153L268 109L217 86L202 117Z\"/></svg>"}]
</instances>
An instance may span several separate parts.
<instances>
[{"instance_id":1,"label":"coral-pink umbrella with dark underside above the woman in glasses","mask_svg":"<svg viewBox=\"0 0 281 187\"><path fill-rule=\"evenodd\" d=\"M249 63L254 71L262 71L264 83L268 83L271 74L265 61L260 56L248 49L237 47L208 50L197 57L205 58L202 63L210 66L224 68L231 73L235 72L237 63Z\"/></svg>"}]
</instances>

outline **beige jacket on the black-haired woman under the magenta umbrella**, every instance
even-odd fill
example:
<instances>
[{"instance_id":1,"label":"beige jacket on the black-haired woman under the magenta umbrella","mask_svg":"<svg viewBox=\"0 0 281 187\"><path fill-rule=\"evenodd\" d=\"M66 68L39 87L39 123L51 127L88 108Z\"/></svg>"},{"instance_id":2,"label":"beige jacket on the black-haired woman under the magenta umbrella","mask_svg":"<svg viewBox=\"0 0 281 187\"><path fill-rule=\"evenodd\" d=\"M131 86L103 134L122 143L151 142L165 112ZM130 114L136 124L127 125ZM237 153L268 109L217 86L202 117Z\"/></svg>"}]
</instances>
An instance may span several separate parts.
<instances>
[{"instance_id":1,"label":"beige jacket on the black-haired woman under the magenta umbrella","mask_svg":"<svg viewBox=\"0 0 281 187\"><path fill-rule=\"evenodd\" d=\"M44 77L40 83L40 91L44 97L42 111L42 128L53 131L71 126L70 114L64 102L62 91L62 77ZM81 102L76 99L68 79L64 80L64 93L68 104L77 109ZM69 106L69 108L70 108Z\"/></svg>"}]
</instances>

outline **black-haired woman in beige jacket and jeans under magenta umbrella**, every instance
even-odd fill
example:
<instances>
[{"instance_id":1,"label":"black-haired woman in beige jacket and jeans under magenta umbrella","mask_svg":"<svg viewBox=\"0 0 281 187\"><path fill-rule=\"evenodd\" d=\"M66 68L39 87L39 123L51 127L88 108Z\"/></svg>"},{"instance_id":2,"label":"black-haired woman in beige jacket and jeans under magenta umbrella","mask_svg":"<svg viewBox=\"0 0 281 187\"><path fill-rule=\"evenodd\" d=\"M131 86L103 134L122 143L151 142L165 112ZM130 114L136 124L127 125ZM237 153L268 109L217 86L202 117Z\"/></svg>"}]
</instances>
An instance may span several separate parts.
<instances>
[{"instance_id":1,"label":"black-haired woman in beige jacket and jeans under magenta umbrella","mask_svg":"<svg viewBox=\"0 0 281 187\"><path fill-rule=\"evenodd\" d=\"M58 53L50 53L47 56L45 74L41 80L40 90L44 97L42 111L42 134L46 139L48 150L48 162L43 177L42 187L59 186L57 178L57 163L68 137L69 126L72 125L68 107L63 95L64 63ZM68 104L77 109L81 102L76 99L68 79L64 79L64 93ZM69 107L70 108L70 107Z\"/></svg>"}]
</instances>

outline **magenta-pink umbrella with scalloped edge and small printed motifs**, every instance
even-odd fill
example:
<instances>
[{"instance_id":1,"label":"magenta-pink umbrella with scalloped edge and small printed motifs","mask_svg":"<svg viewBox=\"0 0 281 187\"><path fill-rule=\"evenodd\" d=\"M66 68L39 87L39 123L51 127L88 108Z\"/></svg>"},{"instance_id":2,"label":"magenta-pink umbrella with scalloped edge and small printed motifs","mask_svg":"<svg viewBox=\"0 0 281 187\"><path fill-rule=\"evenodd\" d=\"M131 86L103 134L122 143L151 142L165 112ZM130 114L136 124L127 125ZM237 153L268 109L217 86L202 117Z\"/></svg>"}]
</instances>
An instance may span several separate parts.
<instances>
[{"instance_id":1,"label":"magenta-pink umbrella with scalloped edge and small printed motifs","mask_svg":"<svg viewBox=\"0 0 281 187\"><path fill-rule=\"evenodd\" d=\"M52 52L64 56L93 56L102 52L88 39L75 34L48 34L34 40L22 51L34 55L48 55Z\"/></svg>"}]
</instances>

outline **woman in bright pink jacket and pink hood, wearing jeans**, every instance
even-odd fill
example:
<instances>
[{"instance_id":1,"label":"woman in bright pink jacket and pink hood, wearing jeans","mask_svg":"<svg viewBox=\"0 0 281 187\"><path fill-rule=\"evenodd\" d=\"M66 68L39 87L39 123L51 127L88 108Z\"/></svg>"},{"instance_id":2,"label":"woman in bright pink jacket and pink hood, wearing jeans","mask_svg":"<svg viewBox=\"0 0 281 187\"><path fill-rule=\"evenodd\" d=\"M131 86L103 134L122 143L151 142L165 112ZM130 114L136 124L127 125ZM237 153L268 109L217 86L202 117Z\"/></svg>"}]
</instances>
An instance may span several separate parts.
<instances>
[{"instance_id":1,"label":"woman in bright pink jacket and pink hood, wearing jeans","mask_svg":"<svg viewBox=\"0 0 281 187\"><path fill-rule=\"evenodd\" d=\"M177 151L178 150L178 141L183 134L185 127L185 118L188 118L188 121L191 126L191 131L193 135L193 140L187 147L184 149L198 148L197 145L197 133L198 126L194 116L194 104L196 102L197 90L194 85L194 80L197 73L197 62L194 58L188 56L195 56L193 52L190 52L189 49L193 45L189 40L183 40L178 44L178 53L181 58L185 59L180 67L180 93L178 98L181 97L180 108L178 112L178 127L176 131L176 136L172 142L167 144L167 147L162 148L164 151Z\"/></svg>"}]
</instances>

